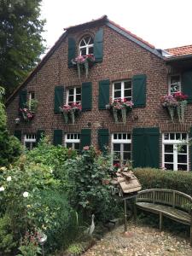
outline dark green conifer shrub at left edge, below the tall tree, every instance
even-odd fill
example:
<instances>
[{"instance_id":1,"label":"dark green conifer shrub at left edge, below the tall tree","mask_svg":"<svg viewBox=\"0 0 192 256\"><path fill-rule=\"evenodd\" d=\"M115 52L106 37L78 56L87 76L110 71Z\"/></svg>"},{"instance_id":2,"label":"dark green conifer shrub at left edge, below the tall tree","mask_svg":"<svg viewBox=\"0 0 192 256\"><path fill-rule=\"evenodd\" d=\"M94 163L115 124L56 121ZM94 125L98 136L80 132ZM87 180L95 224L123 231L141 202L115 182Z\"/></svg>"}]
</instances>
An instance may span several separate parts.
<instances>
[{"instance_id":1,"label":"dark green conifer shrub at left edge, below the tall tree","mask_svg":"<svg viewBox=\"0 0 192 256\"><path fill-rule=\"evenodd\" d=\"M9 166L21 154L21 145L14 136L9 136L7 118L3 102L3 89L0 87L0 166Z\"/></svg>"}]
</instances>

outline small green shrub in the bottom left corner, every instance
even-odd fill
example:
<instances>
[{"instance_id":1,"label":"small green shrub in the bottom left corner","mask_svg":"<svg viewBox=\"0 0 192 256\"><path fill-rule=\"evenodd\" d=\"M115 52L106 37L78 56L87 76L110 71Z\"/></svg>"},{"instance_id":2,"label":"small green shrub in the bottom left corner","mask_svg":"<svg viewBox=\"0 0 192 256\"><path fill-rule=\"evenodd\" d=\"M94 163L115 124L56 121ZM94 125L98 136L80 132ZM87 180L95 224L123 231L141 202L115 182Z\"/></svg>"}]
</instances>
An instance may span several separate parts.
<instances>
[{"instance_id":1,"label":"small green shrub in the bottom left corner","mask_svg":"<svg viewBox=\"0 0 192 256\"><path fill-rule=\"evenodd\" d=\"M0 218L0 251L4 254L10 253L15 246L16 242L10 228L10 218L6 214Z\"/></svg>"}]
</instances>

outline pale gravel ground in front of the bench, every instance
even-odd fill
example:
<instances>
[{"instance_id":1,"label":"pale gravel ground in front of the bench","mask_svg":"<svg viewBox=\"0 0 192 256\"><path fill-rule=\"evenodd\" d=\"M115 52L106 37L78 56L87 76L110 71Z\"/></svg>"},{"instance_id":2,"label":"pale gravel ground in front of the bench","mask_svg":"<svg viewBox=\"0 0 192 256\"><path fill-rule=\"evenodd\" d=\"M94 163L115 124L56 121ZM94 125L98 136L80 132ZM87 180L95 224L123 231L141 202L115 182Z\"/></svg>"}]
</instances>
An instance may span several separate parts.
<instances>
[{"instance_id":1,"label":"pale gravel ground in front of the bench","mask_svg":"<svg viewBox=\"0 0 192 256\"><path fill-rule=\"evenodd\" d=\"M189 237L148 227L128 224L128 235L123 236L124 225L108 232L84 256L192 256Z\"/></svg>"}]
</instances>

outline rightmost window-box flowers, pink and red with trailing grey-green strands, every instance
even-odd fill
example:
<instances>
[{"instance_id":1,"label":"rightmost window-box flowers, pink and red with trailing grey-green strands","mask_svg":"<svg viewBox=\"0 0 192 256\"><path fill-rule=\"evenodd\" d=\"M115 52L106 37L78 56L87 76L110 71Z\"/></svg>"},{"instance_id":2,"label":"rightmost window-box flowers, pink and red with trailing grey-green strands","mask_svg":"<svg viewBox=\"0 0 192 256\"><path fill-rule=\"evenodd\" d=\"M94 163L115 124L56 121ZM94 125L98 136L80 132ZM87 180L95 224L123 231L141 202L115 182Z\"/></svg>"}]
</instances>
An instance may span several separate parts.
<instances>
[{"instance_id":1,"label":"rightmost window-box flowers, pink and red with trailing grey-green strands","mask_svg":"<svg viewBox=\"0 0 192 256\"><path fill-rule=\"evenodd\" d=\"M181 91L177 91L172 95L166 95L160 99L161 106L168 110L172 122L174 121L174 116L176 112L179 122L183 122L184 110L187 105L187 98L188 96L184 95Z\"/></svg>"}]
</instances>

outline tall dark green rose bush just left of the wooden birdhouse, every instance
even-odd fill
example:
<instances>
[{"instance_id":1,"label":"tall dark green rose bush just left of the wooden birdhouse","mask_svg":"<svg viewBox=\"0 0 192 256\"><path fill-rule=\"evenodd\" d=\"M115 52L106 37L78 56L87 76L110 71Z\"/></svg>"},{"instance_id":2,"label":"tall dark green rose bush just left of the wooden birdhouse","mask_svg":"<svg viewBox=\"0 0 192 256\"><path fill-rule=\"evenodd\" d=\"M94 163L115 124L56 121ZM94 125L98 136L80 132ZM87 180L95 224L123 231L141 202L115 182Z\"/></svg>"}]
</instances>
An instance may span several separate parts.
<instances>
[{"instance_id":1,"label":"tall dark green rose bush just left of the wooden birdhouse","mask_svg":"<svg viewBox=\"0 0 192 256\"><path fill-rule=\"evenodd\" d=\"M114 201L108 178L112 172L110 155L102 155L94 147L84 147L82 155L65 164L73 183L71 201L74 207L84 210L84 216L94 212L102 221L112 218Z\"/></svg>"}]
</instances>

